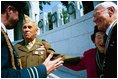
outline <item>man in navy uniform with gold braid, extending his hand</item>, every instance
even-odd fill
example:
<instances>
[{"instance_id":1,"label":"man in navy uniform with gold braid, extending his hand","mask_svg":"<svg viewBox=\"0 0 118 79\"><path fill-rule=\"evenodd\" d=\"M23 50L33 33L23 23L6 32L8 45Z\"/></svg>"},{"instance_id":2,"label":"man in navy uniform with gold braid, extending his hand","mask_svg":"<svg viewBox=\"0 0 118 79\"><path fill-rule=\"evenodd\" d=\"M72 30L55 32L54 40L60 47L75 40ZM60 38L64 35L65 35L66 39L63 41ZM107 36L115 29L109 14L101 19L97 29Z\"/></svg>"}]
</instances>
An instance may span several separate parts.
<instances>
[{"instance_id":1,"label":"man in navy uniform with gold braid, extending his hand","mask_svg":"<svg viewBox=\"0 0 118 79\"><path fill-rule=\"evenodd\" d=\"M20 4L20 5L19 5ZM50 61L53 54L41 65L21 69L18 55L12 46L7 29L13 29L19 20L19 13L25 3L21 1L1 1L1 77L2 78L46 78L63 63L62 58Z\"/></svg>"}]
</instances>

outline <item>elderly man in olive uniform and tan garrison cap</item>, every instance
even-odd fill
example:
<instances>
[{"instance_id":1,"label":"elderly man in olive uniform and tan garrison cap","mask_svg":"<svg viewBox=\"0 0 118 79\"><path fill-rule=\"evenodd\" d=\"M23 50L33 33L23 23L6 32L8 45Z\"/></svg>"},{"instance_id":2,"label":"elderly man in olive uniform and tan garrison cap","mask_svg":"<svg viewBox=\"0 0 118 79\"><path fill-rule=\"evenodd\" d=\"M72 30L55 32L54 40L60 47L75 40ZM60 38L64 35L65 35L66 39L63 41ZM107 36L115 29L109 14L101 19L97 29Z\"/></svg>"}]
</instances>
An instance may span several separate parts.
<instances>
[{"instance_id":1,"label":"elderly man in olive uniform and tan garrison cap","mask_svg":"<svg viewBox=\"0 0 118 79\"><path fill-rule=\"evenodd\" d=\"M69 59L71 57L64 56L55 52L47 41L37 38L36 34L38 28L35 22L27 15L24 15L23 22L24 23L22 31L24 39L14 46L15 49L18 51L23 68L42 64L50 53L54 53L53 59L63 56L63 58L65 59L64 62L68 64L73 64L73 62L75 62ZM79 61L80 58L74 57L73 59Z\"/></svg>"}]
</instances>

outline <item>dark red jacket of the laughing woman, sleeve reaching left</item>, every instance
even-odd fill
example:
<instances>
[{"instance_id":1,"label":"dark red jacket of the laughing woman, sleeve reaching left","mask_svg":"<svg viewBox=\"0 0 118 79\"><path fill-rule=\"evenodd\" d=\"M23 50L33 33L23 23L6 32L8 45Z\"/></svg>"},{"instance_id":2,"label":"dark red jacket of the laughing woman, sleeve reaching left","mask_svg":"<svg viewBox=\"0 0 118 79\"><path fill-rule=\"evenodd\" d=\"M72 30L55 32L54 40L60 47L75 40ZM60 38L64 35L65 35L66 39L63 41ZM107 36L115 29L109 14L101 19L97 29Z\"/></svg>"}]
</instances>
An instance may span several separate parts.
<instances>
[{"instance_id":1,"label":"dark red jacket of the laughing woman, sleeve reaching left","mask_svg":"<svg viewBox=\"0 0 118 79\"><path fill-rule=\"evenodd\" d=\"M64 64L64 66L66 66L72 70L76 70L76 71L86 69L88 78L96 78L97 77L96 49L90 49L88 51L85 51L84 57L81 59L81 61L78 62L78 64L76 64L76 65Z\"/></svg>"}]
</instances>

